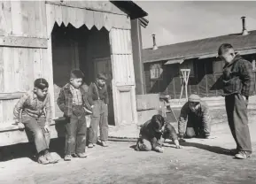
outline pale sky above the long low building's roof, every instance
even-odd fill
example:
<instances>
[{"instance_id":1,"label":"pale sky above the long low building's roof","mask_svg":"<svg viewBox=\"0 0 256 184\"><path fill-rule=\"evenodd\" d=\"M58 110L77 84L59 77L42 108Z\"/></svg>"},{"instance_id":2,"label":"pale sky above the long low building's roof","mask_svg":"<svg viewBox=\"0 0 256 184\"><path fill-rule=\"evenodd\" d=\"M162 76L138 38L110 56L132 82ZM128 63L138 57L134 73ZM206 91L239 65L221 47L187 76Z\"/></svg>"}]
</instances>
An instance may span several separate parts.
<instances>
[{"instance_id":1,"label":"pale sky above the long low building's roof","mask_svg":"<svg viewBox=\"0 0 256 184\"><path fill-rule=\"evenodd\" d=\"M143 47L152 47L152 34L157 45L187 42L219 35L256 30L256 1L135 1L148 16L149 25L142 28ZM255 43L256 44L256 43Z\"/></svg>"}]
</instances>

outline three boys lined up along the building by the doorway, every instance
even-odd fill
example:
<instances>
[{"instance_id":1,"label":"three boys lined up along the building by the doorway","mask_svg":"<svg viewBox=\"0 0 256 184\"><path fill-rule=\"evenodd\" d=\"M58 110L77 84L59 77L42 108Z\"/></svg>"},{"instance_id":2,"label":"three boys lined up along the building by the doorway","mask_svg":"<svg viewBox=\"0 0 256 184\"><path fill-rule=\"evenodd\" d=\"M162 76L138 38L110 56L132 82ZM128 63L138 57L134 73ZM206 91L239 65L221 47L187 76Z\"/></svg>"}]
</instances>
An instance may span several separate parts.
<instances>
[{"instance_id":1,"label":"three boys lined up along the building by the doorway","mask_svg":"<svg viewBox=\"0 0 256 184\"><path fill-rule=\"evenodd\" d=\"M86 115L91 114L89 126L89 148L97 143L97 127L100 126L100 144L107 147L108 138L108 93L104 73L98 73L97 79L89 85L88 91L81 87L84 76L80 70L70 73L70 81L60 90L58 107L66 118L66 145L64 160L73 157L87 157ZM40 78L34 82L34 90L19 99L13 110L14 120L19 128L25 128L34 135L38 163L54 164L58 160L51 157L50 123L52 106L49 83Z\"/></svg>"}]
</instances>

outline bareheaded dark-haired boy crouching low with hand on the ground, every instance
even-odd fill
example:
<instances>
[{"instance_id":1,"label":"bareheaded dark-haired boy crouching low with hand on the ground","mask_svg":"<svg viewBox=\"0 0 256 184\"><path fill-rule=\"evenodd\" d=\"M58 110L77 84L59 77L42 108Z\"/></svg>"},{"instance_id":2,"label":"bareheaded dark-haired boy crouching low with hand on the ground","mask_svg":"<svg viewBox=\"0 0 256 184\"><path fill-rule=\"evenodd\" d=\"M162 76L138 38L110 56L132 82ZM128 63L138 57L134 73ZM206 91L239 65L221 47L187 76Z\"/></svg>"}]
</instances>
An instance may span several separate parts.
<instances>
[{"instance_id":1,"label":"bareheaded dark-haired boy crouching low with hand on the ground","mask_svg":"<svg viewBox=\"0 0 256 184\"><path fill-rule=\"evenodd\" d=\"M165 123L165 119L161 115L154 115L151 120L145 122L144 126L141 127L136 150L155 150L162 153L164 151L162 143L166 139L172 139L177 149L182 148L178 141L175 127Z\"/></svg>"}]
</instances>

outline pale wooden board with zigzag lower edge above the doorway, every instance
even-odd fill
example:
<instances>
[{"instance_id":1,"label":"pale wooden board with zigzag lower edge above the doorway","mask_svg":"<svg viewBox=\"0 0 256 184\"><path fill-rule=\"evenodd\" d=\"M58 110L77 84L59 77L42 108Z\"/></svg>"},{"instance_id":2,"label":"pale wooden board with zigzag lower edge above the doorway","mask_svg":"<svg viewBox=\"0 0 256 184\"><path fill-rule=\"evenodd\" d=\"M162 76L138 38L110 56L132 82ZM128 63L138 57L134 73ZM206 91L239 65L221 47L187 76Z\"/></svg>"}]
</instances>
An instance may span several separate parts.
<instances>
[{"instance_id":1,"label":"pale wooden board with zigzag lower edge above the doorway","mask_svg":"<svg viewBox=\"0 0 256 184\"><path fill-rule=\"evenodd\" d=\"M93 26L97 27L98 30L105 27L108 31L112 27L130 29L130 19L125 13L75 7L74 4L46 2L46 16L48 37L55 22L57 22L58 26L62 23L65 26L72 24L76 28L85 25L88 29L91 29Z\"/></svg>"}]
</instances>

